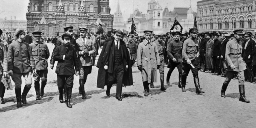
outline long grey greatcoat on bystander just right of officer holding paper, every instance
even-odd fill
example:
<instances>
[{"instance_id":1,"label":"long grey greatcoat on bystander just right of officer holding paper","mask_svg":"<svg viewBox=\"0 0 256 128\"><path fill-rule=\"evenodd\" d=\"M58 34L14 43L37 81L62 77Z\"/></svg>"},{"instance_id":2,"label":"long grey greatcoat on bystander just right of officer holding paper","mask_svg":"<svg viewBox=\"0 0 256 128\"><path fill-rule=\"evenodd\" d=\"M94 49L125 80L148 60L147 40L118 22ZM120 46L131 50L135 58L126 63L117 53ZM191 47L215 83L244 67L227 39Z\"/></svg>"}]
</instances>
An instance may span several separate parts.
<instances>
[{"instance_id":1,"label":"long grey greatcoat on bystander just right of officer holding paper","mask_svg":"<svg viewBox=\"0 0 256 128\"><path fill-rule=\"evenodd\" d=\"M209 41L207 41L207 43L206 43L206 49L205 49L205 60L206 60L207 68L213 68L212 49L213 49L213 41L212 41L212 39L209 39Z\"/></svg>"}]
</instances>

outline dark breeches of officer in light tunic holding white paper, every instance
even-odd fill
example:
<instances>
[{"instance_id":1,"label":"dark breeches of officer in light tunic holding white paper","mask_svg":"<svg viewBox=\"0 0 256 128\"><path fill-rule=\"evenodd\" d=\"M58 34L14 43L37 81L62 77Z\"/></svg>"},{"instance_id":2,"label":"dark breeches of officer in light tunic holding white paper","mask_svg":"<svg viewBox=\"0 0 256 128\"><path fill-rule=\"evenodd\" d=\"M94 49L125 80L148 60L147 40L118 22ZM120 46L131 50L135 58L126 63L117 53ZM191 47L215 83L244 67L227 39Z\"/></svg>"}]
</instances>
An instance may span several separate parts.
<instances>
[{"instance_id":1,"label":"dark breeches of officer in light tunic holding white paper","mask_svg":"<svg viewBox=\"0 0 256 128\"><path fill-rule=\"evenodd\" d=\"M192 60L191 63L195 68L192 68L190 64L182 63L182 70L183 70L183 76L188 76L189 71L191 70L193 76L198 75L198 69L199 69L199 58L196 58L195 60Z\"/></svg>"}]
</instances>

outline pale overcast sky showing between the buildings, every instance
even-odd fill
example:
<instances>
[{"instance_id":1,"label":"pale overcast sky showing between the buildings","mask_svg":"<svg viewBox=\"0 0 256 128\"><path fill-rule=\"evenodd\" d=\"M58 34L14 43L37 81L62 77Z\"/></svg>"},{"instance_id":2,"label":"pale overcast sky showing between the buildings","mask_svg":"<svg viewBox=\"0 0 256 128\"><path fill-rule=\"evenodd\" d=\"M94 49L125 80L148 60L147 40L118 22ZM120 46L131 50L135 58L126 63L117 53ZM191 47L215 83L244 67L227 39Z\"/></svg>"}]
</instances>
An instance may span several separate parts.
<instances>
[{"instance_id":1,"label":"pale overcast sky showing between the buildings","mask_svg":"<svg viewBox=\"0 0 256 128\"><path fill-rule=\"evenodd\" d=\"M109 0L111 7L111 14L116 12L117 0ZM134 1L134 3L133 3ZM148 9L148 2L150 0L119 0L121 11L124 13L124 20L133 13L134 9L139 8L140 12L146 13ZM174 7L189 7L190 0L156 0L159 1L160 6L164 9L168 6L169 11ZM196 12L196 2L200 0L191 0L192 10ZM0 0L0 18L7 17L7 19L26 20L26 12L29 0Z\"/></svg>"}]
</instances>

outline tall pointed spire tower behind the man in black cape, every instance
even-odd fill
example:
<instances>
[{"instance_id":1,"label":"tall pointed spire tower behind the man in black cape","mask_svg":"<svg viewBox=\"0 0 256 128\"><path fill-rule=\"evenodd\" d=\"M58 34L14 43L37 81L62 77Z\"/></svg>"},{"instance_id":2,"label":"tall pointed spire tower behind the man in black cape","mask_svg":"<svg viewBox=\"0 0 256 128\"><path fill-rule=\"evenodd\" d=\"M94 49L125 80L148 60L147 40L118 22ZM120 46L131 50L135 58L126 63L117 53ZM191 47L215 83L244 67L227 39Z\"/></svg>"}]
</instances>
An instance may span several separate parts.
<instances>
[{"instance_id":1,"label":"tall pointed spire tower behind the man in black cape","mask_svg":"<svg viewBox=\"0 0 256 128\"><path fill-rule=\"evenodd\" d=\"M117 8L116 8L116 12L114 13L113 28L120 29L120 30L126 29L123 13L120 9L119 0L117 1Z\"/></svg>"}]
</instances>

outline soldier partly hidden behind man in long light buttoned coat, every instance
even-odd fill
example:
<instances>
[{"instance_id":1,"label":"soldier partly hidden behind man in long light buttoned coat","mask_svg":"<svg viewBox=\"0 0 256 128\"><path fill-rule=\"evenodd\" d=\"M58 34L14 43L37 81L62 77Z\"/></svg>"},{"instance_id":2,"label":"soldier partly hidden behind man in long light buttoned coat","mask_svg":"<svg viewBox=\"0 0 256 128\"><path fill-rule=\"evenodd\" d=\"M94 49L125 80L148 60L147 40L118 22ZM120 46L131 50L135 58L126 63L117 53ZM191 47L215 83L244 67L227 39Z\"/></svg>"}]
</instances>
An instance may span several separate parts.
<instances>
[{"instance_id":1,"label":"soldier partly hidden behind man in long light buttoned coat","mask_svg":"<svg viewBox=\"0 0 256 128\"><path fill-rule=\"evenodd\" d=\"M157 40L154 41L153 43L155 43L157 45L157 50L158 50L158 53L159 53L159 58L160 58L160 67L159 67L159 73L160 73L160 82L161 82L161 88L160 90L166 90L166 88L163 86L164 84L164 52L165 52L165 44L163 42L163 33L159 33L157 35ZM154 84L153 82L151 81L150 83L150 87L151 88L154 88Z\"/></svg>"}]
</instances>

